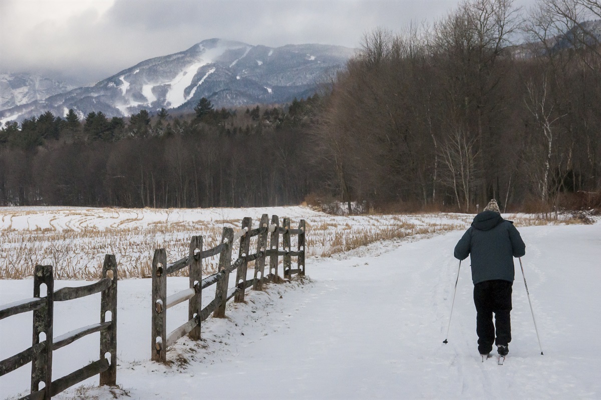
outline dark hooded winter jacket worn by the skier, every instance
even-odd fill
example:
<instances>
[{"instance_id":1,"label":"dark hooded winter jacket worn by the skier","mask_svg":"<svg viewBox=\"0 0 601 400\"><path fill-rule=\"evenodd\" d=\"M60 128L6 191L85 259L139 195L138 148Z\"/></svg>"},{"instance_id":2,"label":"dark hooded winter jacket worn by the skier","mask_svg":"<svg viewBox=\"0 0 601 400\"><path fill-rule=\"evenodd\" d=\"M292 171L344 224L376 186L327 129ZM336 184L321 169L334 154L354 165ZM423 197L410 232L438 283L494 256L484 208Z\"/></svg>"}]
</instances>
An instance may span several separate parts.
<instances>
[{"instance_id":1,"label":"dark hooded winter jacket worn by the skier","mask_svg":"<svg viewBox=\"0 0 601 400\"><path fill-rule=\"evenodd\" d=\"M513 222L489 210L474 217L472 226L455 246L458 260L470 255L474 285L493 279L513 282L513 257L524 254L526 245Z\"/></svg>"}]
</instances>

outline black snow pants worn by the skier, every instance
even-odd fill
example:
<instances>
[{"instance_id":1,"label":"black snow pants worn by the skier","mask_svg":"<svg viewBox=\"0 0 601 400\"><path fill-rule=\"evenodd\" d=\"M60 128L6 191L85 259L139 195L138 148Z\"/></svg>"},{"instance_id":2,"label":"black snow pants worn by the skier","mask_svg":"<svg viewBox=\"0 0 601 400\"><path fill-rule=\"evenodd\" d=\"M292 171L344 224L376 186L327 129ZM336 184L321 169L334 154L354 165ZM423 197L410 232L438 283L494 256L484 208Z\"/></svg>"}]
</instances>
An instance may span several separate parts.
<instances>
[{"instance_id":1,"label":"black snow pants worn by the skier","mask_svg":"<svg viewBox=\"0 0 601 400\"><path fill-rule=\"evenodd\" d=\"M511 286L513 282L495 279L474 285L476 306L476 333L478 351L488 354L492 344L507 345L511 341ZM495 324L492 314L495 313ZM496 328L496 342L495 342Z\"/></svg>"}]
</instances>

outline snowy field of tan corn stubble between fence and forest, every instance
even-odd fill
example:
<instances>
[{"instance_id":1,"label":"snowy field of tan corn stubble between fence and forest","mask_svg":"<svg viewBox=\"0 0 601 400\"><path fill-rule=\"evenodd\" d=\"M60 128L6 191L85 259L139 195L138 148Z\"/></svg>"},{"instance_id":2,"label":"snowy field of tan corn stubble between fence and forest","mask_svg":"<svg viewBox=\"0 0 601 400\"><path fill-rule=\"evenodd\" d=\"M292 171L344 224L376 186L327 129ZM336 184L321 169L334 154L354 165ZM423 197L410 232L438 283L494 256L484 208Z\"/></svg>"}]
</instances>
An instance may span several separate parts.
<instances>
[{"instance_id":1,"label":"snowy field of tan corn stubble between fence and forest","mask_svg":"<svg viewBox=\"0 0 601 400\"><path fill-rule=\"evenodd\" d=\"M248 209L114 209L84 207L0 207L0 279L32 275L35 264L52 265L56 279L99 279L104 254L115 254L120 278L150 276L154 249L165 248L168 262L188 255L191 236L202 235L204 249L221 242L224 226L239 230L261 214L307 221L307 257L328 257L379 240L463 230L473 215L424 213L337 216L308 207ZM516 226L548 224L528 215L507 216ZM566 221L563 221L566 222ZM293 236L292 248L296 248ZM256 248L257 237L251 241ZM280 247L282 246L280 242ZM237 248L234 246L233 257ZM293 257L293 261L296 261ZM280 260L281 262L281 260ZM216 271L218 257L203 261L203 273ZM253 267L253 263L249 263ZM182 271L179 272L183 273ZM177 274L176 274L177 275Z\"/></svg>"}]
</instances>

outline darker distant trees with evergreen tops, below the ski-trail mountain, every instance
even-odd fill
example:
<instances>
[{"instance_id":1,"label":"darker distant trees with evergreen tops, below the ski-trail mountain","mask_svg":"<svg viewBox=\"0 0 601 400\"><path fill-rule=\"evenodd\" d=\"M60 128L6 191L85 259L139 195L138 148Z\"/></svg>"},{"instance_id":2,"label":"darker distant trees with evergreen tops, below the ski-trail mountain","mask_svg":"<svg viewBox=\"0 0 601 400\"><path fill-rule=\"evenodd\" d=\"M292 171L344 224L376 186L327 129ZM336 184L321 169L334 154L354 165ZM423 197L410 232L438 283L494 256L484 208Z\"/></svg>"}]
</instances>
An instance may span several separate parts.
<instances>
[{"instance_id":1,"label":"darker distant trees with evergreen tops, below the ski-trail mountain","mask_svg":"<svg viewBox=\"0 0 601 400\"><path fill-rule=\"evenodd\" d=\"M319 96L282 107L129 119L46 112L0 131L0 204L123 207L299 203L317 179L303 150Z\"/></svg>"}]
</instances>

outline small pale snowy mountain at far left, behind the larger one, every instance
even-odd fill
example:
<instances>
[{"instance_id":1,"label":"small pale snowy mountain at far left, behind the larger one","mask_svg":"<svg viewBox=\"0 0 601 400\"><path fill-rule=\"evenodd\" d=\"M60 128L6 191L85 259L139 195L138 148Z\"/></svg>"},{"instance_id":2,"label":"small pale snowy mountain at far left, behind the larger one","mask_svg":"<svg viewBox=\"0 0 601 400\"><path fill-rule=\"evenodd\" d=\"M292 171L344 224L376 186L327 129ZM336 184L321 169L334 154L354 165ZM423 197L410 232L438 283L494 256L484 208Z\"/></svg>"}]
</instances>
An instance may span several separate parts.
<instances>
[{"instance_id":1,"label":"small pale snowy mountain at far left, behind the larger one","mask_svg":"<svg viewBox=\"0 0 601 400\"><path fill-rule=\"evenodd\" d=\"M0 74L0 110L44 100L73 88L69 83L35 74Z\"/></svg>"}]
</instances>

